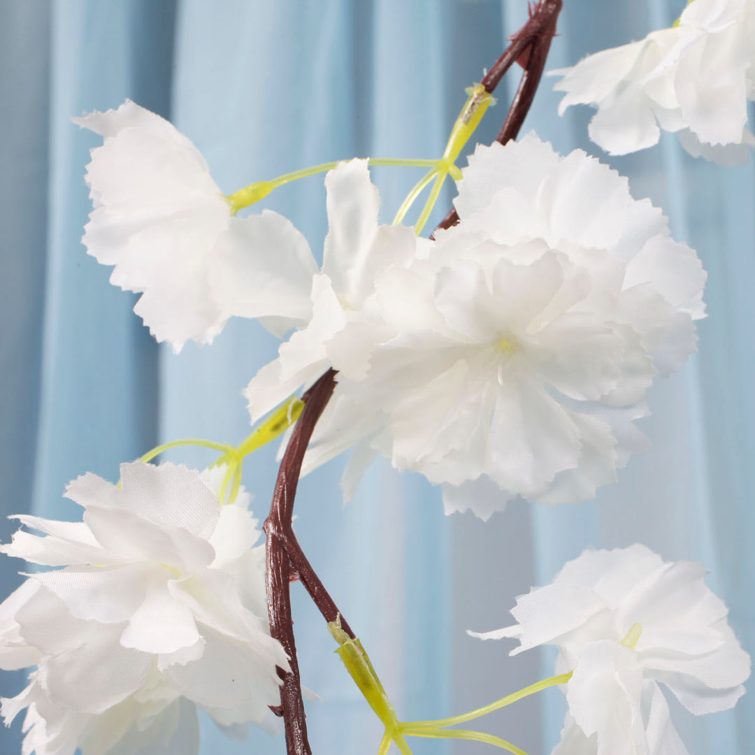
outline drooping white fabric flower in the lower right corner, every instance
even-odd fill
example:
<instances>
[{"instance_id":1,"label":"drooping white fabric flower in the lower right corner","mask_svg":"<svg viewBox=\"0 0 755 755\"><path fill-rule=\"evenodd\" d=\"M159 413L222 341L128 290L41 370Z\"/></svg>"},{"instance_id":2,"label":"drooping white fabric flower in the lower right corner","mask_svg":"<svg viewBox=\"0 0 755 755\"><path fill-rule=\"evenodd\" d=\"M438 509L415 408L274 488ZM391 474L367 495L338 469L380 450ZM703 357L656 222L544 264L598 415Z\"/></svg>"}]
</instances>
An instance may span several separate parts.
<instances>
[{"instance_id":1,"label":"drooping white fabric flower in the lower right corner","mask_svg":"<svg viewBox=\"0 0 755 755\"><path fill-rule=\"evenodd\" d=\"M547 587L516 599L517 624L481 639L519 639L511 655L559 649L569 713L553 755L684 755L664 685L695 714L733 707L750 657L701 565L643 545L586 550Z\"/></svg>"}]
</instances>

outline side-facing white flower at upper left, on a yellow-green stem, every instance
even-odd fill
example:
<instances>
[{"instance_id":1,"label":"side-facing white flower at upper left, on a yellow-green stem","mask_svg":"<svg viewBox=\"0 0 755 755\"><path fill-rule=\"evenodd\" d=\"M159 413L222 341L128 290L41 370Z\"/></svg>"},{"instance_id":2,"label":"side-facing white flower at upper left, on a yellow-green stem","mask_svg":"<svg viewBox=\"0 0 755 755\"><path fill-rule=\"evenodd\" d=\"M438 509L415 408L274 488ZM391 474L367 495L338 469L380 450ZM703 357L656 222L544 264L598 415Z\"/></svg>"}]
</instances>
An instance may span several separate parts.
<instances>
[{"instance_id":1,"label":"side-facing white flower at upper left, on a yellow-green stem","mask_svg":"<svg viewBox=\"0 0 755 755\"><path fill-rule=\"evenodd\" d=\"M209 344L233 315L278 334L307 322L316 265L289 220L232 217L196 146L130 100L74 121L104 137L87 166L94 210L82 241L115 266L110 282L141 294L134 312L158 341L176 353Z\"/></svg>"}]
</instances>

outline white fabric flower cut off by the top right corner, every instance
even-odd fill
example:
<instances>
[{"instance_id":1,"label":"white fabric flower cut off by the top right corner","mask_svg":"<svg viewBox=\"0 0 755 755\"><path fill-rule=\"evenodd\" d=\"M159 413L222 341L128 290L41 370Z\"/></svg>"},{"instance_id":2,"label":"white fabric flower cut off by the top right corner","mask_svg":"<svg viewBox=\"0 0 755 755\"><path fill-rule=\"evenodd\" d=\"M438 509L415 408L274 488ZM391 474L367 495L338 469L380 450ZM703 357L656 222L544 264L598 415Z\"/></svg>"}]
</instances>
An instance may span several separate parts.
<instances>
[{"instance_id":1,"label":"white fabric flower cut off by the top right corner","mask_svg":"<svg viewBox=\"0 0 755 755\"><path fill-rule=\"evenodd\" d=\"M675 131L693 156L747 162L755 137L747 100L755 99L755 2L694 0L670 29L640 42L589 55L555 85L575 104L598 112L590 139L612 155L658 142Z\"/></svg>"}]
</instances>

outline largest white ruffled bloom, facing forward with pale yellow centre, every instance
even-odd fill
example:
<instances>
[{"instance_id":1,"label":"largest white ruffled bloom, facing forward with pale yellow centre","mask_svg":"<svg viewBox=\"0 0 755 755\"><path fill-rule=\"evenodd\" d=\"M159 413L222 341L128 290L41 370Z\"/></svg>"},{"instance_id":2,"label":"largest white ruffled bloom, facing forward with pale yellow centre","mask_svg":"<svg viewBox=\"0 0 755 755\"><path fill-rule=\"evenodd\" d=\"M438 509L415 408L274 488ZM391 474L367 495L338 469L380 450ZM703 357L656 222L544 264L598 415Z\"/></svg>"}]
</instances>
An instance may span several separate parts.
<instances>
[{"instance_id":1,"label":"largest white ruffled bloom, facing forward with pale yellow centre","mask_svg":"<svg viewBox=\"0 0 755 755\"><path fill-rule=\"evenodd\" d=\"M326 345L351 402L337 430L444 485L446 510L592 498L646 447L632 421L655 376L695 350L704 270L579 150L530 134L463 174L458 226L377 273ZM322 433L305 471L339 450Z\"/></svg>"}]
</instances>

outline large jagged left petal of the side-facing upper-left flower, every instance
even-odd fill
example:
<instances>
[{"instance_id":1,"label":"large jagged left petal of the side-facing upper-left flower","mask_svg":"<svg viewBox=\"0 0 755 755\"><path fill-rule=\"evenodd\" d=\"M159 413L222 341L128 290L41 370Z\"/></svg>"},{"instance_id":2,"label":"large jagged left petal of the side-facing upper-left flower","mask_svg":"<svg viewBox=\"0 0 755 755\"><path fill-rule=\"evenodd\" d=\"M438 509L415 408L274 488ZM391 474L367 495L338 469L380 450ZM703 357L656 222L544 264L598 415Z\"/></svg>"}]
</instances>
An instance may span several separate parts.
<instances>
[{"instance_id":1,"label":"large jagged left petal of the side-facing upper-left flower","mask_svg":"<svg viewBox=\"0 0 755 755\"><path fill-rule=\"evenodd\" d=\"M76 119L105 136L87 167L94 211L83 242L111 281L143 292L134 311L159 341L180 351L223 328L207 285L207 257L230 204L190 140L131 102Z\"/></svg>"}]
</instances>

